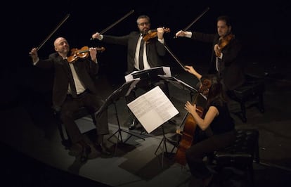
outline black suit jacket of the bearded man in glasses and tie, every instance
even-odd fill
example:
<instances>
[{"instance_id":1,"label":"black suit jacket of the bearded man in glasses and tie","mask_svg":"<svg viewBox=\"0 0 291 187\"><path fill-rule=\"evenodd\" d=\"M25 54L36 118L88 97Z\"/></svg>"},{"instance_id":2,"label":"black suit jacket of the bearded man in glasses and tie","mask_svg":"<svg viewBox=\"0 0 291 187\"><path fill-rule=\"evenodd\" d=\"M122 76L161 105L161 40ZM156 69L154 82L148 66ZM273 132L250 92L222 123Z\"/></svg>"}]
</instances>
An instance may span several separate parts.
<instances>
[{"instance_id":1,"label":"black suit jacket of the bearded man in glasses and tie","mask_svg":"<svg viewBox=\"0 0 291 187\"><path fill-rule=\"evenodd\" d=\"M139 37L140 33L135 31L122 37L103 35L102 41L105 43L127 46L127 74L134 71L134 56ZM157 37L149 39L148 42L146 42L146 56L150 67L162 66L162 57L165 56L165 54L166 49L164 45L157 40Z\"/></svg>"}]
</instances>

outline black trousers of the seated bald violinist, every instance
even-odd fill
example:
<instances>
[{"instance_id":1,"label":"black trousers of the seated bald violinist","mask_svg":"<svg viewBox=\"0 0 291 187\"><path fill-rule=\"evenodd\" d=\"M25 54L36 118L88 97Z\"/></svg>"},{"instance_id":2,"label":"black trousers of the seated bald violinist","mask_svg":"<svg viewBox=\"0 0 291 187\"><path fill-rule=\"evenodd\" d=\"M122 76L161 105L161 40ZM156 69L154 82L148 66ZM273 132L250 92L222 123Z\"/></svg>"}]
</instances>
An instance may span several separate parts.
<instances>
[{"instance_id":1,"label":"black trousers of the seated bald violinist","mask_svg":"<svg viewBox=\"0 0 291 187\"><path fill-rule=\"evenodd\" d=\"M103 105L104 101L92 94L83 93L78 98L72 98L68 95L60 109L60 120L62 120L67 133L69 134L72 143L81 141L83 136L77 127L75 122L74 113L81 107L85 107L90 113L96 112ZM108 111L104 110L95 119L93 119L96 125L97 134L109 134L108 128Z\"/></svg>"}]
</instances>

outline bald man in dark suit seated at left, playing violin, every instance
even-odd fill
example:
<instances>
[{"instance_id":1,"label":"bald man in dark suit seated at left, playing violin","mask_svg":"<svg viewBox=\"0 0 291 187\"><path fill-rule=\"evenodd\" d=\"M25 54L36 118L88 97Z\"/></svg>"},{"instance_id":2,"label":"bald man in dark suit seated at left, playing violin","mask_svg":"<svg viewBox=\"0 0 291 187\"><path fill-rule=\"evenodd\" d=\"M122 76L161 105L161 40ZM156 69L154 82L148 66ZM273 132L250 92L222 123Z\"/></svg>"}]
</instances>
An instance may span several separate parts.
<instances>
[{"instance_id":1,"label":"bald man in dark suit seated at left, playing violin","mask_svg":"<svg viewBox=\"0 0 291 187\"><path fill-rule=\"evenodd\" d=\"M70 58L70 46L67 40L58 37L53 45L56 52L49 55L46 60L39 58L36 48L30 51L30 56L33 65L54 69L53 108L60 115L72 144L82 148L80 158L85 162L91 153L91 147L84 141L73 113L80 107L96 112L103 105L103 100L98 96L98 89L92 79L98 73L97 51L95 48L90 48L89 58L79 58L69 63L67 58ZM96 116L93 121L95 120L98 137L93 146L108 155L108 149L103 144L103 135L109 134L107 110Z\"/></svg>"}]
</instances>

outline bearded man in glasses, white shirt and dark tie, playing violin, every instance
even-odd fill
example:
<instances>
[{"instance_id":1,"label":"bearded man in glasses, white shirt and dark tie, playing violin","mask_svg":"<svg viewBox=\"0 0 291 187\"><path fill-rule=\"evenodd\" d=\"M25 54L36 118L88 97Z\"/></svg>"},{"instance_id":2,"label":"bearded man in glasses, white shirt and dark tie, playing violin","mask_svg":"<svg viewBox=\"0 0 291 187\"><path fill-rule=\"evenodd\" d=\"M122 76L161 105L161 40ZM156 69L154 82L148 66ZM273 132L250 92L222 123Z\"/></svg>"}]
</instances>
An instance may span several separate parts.
<instances>
[{"instance_id":1,"label":"bearded man in glasses, white shirt and dark tie, playing violin","mask_svg":"<svg viewBox=\"0 0 291 187\"><path fill-rule=\"evenodd\" d=\"M145 37L150 31L150 18L148 15L140 15L136 20L136 24L138 27L138 32L133 31L124 36L109 36L98 32L92 35L92 39L99 39L108 44L127 46L126 75L134 72L135 70L147 70L152 67L162 66L162 57L166 55L166 49L164 49L164 28L157 28L157 37L144 41L143 37ZM143 56L141 56L142 53ZM148 88L147 82L143 82L143 80L141 80L136 86L148 91L153 88L153 86L157 85L160 86L166 94L168 94L167 84L164 82L156 82ZM134 92L131 91L126 100L130 103L131 101L134 101L135 98ZM137 123L138 121L132 115L132 119L128 124L129 130L135 129Z\"/></svg>"}]
</instances>

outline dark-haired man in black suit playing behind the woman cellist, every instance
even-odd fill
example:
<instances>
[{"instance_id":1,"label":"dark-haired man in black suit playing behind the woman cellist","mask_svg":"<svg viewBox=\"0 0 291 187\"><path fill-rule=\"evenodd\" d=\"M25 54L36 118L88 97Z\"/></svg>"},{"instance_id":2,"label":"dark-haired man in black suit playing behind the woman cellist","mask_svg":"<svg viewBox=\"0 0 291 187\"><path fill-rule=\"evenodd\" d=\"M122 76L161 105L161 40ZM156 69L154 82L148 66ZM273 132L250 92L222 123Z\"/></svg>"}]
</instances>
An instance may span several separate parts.
<instances>
[{"instance_id":1,"label":"dark-haired man in black suit playing behind the woman cellist","mask_svg":"<svg viewBox=\"0 0 291 187\"><path fill-rule=\"evenodd\" d=\"M230 93L245 82L243 62L240 59L241 44L232 33L231 20L226 15L217 18L217 33L205 34L180 30L176 37L188 37L203 42L212 42L213 51L209 65L209 73L217 73L224 86Z\"/></svg>"}]
</instances>

